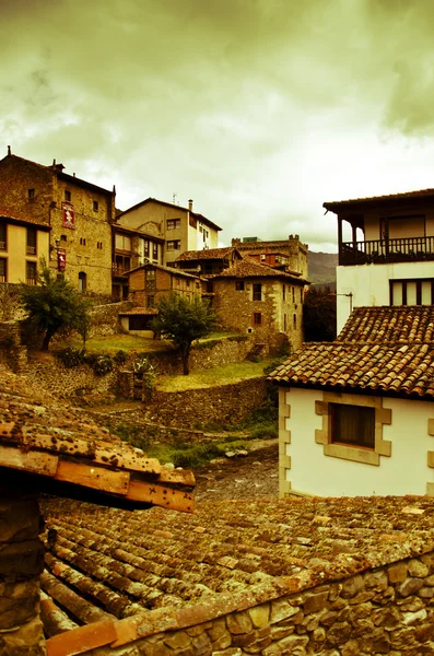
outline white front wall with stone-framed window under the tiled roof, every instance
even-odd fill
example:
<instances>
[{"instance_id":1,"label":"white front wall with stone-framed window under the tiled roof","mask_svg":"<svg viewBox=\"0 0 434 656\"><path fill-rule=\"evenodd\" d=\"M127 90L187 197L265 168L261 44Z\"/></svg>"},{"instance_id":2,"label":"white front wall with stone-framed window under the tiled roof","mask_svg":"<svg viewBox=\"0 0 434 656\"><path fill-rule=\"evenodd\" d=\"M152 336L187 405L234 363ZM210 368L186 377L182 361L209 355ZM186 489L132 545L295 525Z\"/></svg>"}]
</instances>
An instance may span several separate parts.
<instances>
[{"instance_id":1,"label":"white front wall with stone-framed window under the tiled roof","mask_svg":"<svg viewBox=\"0 0 434 656\"><path fill-rule=\"evenodd\" d=\"M324 417L317 413L317 403L324 403L324 398L320 390L280 387L281 490L319 496L426 494L427 484L434 482L434 468L427 465L429 453L434 450L434 436L429 434L433 403L376 397L374 401L379 401L384 415L390 420L382 425L389 455L377 455L372 443L375 420L372 411L365 410L371 397L342 394L341 400L349 401L348 408L352 403L359 408L356 413L366 412L366 417L355 422L351 410L344 411L337 431L347 433L345 442L341 436L338 449L331 445L332 455L326 455L325 444L318 443ZM337 400L339 405L339 397ZM351 423L359 425L359 436L351 434ZM359 444L364 433L365 443ZM377 456L376 460L371 456Z\"/></svg>"}]
</instances>

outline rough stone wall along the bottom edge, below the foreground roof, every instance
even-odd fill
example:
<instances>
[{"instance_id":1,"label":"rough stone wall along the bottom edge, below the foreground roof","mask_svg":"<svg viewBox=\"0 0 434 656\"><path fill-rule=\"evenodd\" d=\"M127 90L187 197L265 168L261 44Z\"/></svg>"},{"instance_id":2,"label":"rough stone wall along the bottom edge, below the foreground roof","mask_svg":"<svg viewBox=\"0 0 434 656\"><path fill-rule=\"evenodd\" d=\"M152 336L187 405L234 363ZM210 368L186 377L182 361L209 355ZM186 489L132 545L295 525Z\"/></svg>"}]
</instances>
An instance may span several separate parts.
<instances>
[{"instance_id":1,"label":"rough stone wall along the bottom edge, below the foreground roof","mask_svg":"<svg viewBox=\"0 0 434 656\"><path fill-rule=\"evenodd\" d=\"M303 587L303 575L282 579L282 588L291 584ZM434 653L433 599L430 552L294 594L265 585L212 604L153 610L115 623L114 646L86 654L420 656Z\"/></svg>"}]
</instances>

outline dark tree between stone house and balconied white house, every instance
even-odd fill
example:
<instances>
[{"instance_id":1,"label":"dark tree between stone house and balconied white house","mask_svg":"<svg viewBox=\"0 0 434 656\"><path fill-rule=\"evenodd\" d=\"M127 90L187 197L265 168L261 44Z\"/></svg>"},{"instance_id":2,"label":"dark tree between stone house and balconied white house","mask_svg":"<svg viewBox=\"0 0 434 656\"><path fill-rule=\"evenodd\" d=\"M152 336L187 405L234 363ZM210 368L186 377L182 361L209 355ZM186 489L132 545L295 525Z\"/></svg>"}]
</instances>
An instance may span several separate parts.
<instances>
[{"instance_id":1,"label":"dark tree between stone house and balconied white house","mask_svg":"<svg viewBox=\"0 0 434 656\"><path fill-rule=\"evenodd\" d=\"M305 341L333 341L336 338L336 293L329 286L312 289L304 298Z\"/></svg>"}]
</instances>

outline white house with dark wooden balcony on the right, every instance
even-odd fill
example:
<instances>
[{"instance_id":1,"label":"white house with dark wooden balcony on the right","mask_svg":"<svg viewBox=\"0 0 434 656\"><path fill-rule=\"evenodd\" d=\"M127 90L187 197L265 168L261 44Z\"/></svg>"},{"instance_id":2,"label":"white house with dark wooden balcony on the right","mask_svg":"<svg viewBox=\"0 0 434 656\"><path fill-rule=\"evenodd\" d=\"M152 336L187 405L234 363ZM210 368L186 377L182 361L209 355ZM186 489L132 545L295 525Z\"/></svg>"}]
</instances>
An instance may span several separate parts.
<instances>
[{"instance_id":1,"label":"white house with dark wooden balcony on the right","mask_svg":"<svg viewBox=\"0 0 434 656\"><path fill-rule=\"evenodd\" d=\"M434 303L434 189L324 207L338 215L338 332L352 307Z\"/></svg>"}]
</instances>

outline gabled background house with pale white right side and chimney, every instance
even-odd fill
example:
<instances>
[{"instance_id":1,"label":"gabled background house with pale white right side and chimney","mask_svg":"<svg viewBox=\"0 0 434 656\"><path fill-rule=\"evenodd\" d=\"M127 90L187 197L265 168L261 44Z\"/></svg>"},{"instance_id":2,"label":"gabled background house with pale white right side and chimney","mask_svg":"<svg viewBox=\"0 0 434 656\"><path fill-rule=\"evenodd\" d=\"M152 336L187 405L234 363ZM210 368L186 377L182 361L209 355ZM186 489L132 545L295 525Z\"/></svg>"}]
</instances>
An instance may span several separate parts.
<instances>
[{"instance_id":1,"label":"gabled background house with pale white right side and chimney","mask_svg":"<svg viewBox=\"0 0 434 656\"><path fill-rule=\"evenodd\" d=\"M118 214L117 222L164 239L163 265L173 262L185 250L215 248L222 230L207 216L193 212L192 200L184 208L146 198Z\"/></svg>"}]
</instances>

